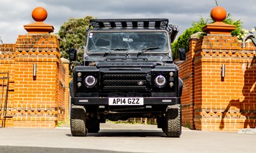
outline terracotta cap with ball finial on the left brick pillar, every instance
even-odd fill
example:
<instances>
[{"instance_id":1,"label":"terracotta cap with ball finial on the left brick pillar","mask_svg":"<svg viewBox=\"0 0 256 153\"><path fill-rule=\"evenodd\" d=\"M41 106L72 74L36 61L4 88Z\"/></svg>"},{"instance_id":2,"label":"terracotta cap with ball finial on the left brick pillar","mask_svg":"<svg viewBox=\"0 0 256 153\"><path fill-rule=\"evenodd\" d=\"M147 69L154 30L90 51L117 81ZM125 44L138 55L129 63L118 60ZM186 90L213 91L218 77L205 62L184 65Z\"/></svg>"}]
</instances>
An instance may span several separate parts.
<instances>
[{"instance_id":1,"label":"terracotta cap with ball finial on the left brick pillar","mask_svg":"<svg viewBox=\"0 0 256 153\"><path fill-rule=\"evenodd\" d=\"M47 18L47 11L44 8L35 8L32 11L32 18L36 22L24 25L24 29L28 31L29 34L49 34L54 31L53 25L44 23L44 20Z\"/></svg>"}]
</instances>

